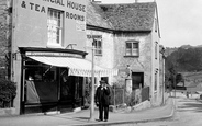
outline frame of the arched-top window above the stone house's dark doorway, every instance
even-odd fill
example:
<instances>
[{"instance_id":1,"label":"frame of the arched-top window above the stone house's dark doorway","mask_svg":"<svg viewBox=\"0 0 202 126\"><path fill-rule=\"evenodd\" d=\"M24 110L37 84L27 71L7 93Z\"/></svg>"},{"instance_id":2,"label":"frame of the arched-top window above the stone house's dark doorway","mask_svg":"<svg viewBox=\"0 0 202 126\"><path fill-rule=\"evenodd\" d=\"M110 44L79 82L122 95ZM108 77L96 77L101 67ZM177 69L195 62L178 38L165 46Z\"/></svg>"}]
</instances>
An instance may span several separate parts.
<instances>
[{"instance_id":1,"label":"frame of the arched-top window above the stone house's dark doorway","mask_svg":"<svg viewBox=\"0 0 202 126\"><path fill-rule=\"evenodd\" d=\"M131 49L127 49L127 44L130 43L131 43ZM137 45L136 48L134 48L134 44ZM133 54L133 50L136 51L136 55ZM131 51L130 55L127 54L128 51ZM125 57L139 57L139 42L138 41L130 39L125 42Z\"/></svg>"}]
</instances>

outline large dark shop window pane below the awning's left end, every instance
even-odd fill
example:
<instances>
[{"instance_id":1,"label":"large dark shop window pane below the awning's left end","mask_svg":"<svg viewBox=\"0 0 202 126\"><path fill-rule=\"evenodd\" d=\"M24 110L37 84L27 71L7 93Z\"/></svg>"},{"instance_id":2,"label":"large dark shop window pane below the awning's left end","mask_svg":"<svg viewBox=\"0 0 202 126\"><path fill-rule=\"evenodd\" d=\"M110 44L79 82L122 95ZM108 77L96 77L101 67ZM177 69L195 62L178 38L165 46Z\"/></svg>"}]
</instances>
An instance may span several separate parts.
<instances>
[{"instance_id":1,"label":"large dark shop window pane below the awning's left end","mask_svg":"<svg viewBox=\"0 0 202 126\"><path fill-rule=\"evenodd\" d=\"M25 62L25 104L58 101L56 67L29 59Z\"/></svg>"}]
</instances>

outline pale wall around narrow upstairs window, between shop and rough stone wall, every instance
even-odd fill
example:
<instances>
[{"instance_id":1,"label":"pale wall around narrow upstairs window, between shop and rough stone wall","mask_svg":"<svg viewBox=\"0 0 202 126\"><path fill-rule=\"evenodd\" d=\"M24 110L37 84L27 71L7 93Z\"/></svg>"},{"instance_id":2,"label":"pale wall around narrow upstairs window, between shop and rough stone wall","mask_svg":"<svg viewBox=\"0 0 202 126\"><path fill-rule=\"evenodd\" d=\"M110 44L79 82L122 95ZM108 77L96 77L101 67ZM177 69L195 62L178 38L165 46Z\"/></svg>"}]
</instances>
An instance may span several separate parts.
<instances>
[{"instance_id":1,"label":"pale wall around narrow upstairs window, between shop and rough stone wall","mask_svg":"<svg viewBox=\"0 0 202 126\"><path fill-rule=\"evenodd\" d=\"M102 31L96 31L96 30L87 30L87 35L101 35L102 36L102 55L101 56L94 56L94 64L103 67L113 69L114 68L114 43L113 43L113 34L110 32L102 32ZM87 38L86 41L86 51L88 55L86 56L86 59L92 60L92 38ZM99 78L100 79L100 78ZM99 80L98 79L98 80ZM113 77L109 78L109 83L112 84ZM97 81L98 84L98 81Z\"/></svg>"}]
</instances>

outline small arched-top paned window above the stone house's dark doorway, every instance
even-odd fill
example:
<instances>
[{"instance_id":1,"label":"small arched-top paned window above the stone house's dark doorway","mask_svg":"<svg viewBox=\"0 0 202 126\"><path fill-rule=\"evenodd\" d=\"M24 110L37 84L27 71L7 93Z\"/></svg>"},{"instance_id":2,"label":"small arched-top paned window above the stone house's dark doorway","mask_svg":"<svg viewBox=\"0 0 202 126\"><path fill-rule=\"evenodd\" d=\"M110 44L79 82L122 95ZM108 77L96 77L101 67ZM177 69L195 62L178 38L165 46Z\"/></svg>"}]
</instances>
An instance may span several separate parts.
<instances>
[{"instance_id":1,"label":"small arched-top paned window above the stone house's dark doorway","mask_svg":"<svg viewBox=\"0 0 202 126\"><path fill-rule=\"evenodd\" d=\"M136 41L127 41L125 43L125 55L126 56L139 56L139 47L138 42Z\"/></svg>"}]
</instances>

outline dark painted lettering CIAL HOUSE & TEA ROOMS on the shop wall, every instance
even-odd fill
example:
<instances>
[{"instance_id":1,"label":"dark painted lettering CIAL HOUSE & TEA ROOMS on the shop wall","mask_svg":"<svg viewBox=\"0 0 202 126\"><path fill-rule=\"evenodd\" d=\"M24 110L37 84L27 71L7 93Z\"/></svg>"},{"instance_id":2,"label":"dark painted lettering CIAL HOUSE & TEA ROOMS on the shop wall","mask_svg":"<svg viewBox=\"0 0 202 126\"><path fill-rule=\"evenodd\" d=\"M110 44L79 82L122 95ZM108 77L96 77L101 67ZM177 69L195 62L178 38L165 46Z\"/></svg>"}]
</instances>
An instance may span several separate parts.
<instances>
[{"instance_id":1,"label":"dark painted lettering CIAL HOUSE & TEA ROOMS on the shop wall","mask_svg":"<svg viewBox=\"0 0 202 126\"><path fill-rule=\"evenodd\" d=\"M42 0L44 2L48 2L50 4L60 5L64 8L68 8L70 10L79 11L79 12L86 12L86 5L82 3L74 2L70 0ZM35 2L35 3L34 3ZM41 13L47 13L47 8L45 5L34 2L27 2L26 0L22 1L21 8L29 9L32 11L37 11ZM77 21L85 21L85 14L78 14L72 12L65 12L65 16L70 20L77 20Z\"/></svg>"}]
</instances>

